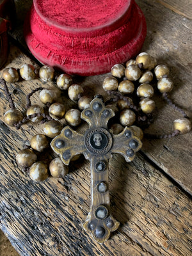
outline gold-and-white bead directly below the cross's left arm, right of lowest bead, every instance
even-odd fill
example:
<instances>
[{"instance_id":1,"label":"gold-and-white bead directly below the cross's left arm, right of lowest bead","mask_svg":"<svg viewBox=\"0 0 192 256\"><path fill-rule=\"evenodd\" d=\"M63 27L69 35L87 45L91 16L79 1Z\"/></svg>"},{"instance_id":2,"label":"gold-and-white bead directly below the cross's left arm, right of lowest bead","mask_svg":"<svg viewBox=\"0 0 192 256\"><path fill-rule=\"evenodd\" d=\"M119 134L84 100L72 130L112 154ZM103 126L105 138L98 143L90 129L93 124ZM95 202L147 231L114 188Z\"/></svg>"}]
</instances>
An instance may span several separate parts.
<instances>
[{"instance_id":1,"label":"gold-and-white bead directly below the cross's left arm, right of lowest bead","mask_svg":"<svg viewBox=\"0 0 192 256\"><path fill-rule=\"evenodd\" d=\"M63 178L68 173L68 166L63 164L60 157L56 157L49 164L49 170L52 177Z\"/></svg>"}]
</instances>

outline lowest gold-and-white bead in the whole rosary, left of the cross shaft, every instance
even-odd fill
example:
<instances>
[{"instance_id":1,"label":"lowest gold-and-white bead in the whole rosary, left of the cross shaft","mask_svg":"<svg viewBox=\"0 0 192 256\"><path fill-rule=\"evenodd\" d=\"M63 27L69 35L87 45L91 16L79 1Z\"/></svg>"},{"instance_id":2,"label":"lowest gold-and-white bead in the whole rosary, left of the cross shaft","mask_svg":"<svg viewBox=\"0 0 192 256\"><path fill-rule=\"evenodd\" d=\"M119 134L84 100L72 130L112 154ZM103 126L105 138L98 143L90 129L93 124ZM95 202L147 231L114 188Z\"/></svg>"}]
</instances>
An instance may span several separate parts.
<instances>
[{"instance_id":1,"label":"lowest gold-and-white bead in the whole rosary, left of the cross shaft","mask_svg":"<svg viewBox=\"0 0 192 256\"><path fill-rule=\"evenodd\" d=\"M43 162L36 162L31 165L29 169L29 177L35 181L42 181L48 177L47 164Z\"/></svg>"}]
</instances>

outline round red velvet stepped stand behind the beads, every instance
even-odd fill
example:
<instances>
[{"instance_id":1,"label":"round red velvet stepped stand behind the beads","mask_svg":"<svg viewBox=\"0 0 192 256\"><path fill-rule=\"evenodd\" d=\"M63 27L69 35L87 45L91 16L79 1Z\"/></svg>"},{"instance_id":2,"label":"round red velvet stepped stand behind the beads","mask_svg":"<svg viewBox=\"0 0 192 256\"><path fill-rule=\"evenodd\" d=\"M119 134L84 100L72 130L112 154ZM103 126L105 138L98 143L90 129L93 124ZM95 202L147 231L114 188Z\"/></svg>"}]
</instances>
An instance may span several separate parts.
<instances>
[{"instance_id":1,"label":"round red velvet stepped stand behind the beads","mask_svg":"<svg viewBox=\"0 0 192 256\"><path fill-rule=\"evenodd\" d=\"M109 72L138 54L146 31L134 0L34 0L24 24L36 59L81 76Z\"/></svg>"}]
</instances>

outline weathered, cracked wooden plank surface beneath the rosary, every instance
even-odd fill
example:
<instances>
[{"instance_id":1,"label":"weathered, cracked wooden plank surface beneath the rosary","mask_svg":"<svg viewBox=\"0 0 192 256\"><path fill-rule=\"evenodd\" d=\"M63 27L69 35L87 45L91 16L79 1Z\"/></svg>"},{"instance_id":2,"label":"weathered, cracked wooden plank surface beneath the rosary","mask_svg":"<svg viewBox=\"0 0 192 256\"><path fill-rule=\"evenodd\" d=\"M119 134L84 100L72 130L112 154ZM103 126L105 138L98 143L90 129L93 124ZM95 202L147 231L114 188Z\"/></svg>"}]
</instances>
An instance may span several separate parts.
<instances>
[{"instance_id":1,"label":"weathered, cracked wooden plank surface beneath the rosary","mask_svg":"<svg viewBox=\"0 0 192 256\"><path fill-rule=\"evenodd\" d=\"M147 20L147 38L142 51L170 67L174 82L172 99L191 118L191 1L136 1ZM18 21L10 35L10 54L4 67L24 63L38 67L22 37L22 22L31 1L16 1ZM174 11L174 12L173 12ZM88 95L102 93L108 74L76 77ZM42 83L10 84L17 108L24 111L26 94ZM45 84L47 88L54 86ZM143 140L132 163L119 155L109 162L111 211L120 227L104 244L84 232L82 223L90 207L90 164L83 158L70 164L65 179L33 182L18 168L15 155L42 125L28 123L22 129L8 127L3 115L8 102L0 88L0 228L23 256L42 255L191 255L191 132L177 138ZM180 113L159 97L156 120L148 132L172 131ZM38 102L38 95L33 103ZM69 108L69 106L68 106Z\"/></svg>"}]
</instances>

